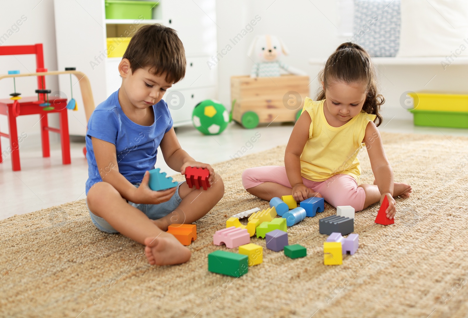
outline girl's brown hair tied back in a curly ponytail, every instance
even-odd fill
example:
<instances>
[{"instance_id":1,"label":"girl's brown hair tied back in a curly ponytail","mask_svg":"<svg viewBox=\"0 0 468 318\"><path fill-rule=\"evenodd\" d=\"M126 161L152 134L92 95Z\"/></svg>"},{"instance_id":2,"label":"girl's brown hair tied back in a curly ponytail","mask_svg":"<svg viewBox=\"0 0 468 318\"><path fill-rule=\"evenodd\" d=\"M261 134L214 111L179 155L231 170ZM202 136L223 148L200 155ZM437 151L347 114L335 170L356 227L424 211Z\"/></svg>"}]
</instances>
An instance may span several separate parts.
<instances>
[{"instance_id":1,"label":"girl's brown hair tied back in a curly ponytail","mask_svg":"<svg viewBox=\"0 0 468 318\"><path fill-rule=\"evenodd\" d=\"M333 81L342 81L345 83L365 82L366 83L366 101L362 111L367 114L376 115L374 123L379 126L382 123L380 116L380 105L385 102L385 98L377 93L377 79L372 63L371 56L360 45L352 42L346 42L336 48L325 63L325 67L319 72L319 82L328 87ZM321 86L317 94L317 101L325 99L325 91Z\"/></svg>"}]
</instances>

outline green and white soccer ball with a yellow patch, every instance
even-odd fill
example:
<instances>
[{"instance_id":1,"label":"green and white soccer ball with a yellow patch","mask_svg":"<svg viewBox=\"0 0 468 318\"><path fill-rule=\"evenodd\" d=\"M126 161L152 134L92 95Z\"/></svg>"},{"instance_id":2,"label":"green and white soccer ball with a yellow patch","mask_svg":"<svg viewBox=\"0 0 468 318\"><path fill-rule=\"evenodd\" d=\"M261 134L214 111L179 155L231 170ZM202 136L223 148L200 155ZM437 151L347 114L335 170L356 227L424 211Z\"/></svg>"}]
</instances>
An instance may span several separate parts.
<instances>
[{"instance_id":1,"label":"green and white soccer ball with a yellow patch","mask_svg":"<svg viewBox=\"0 0 468 318\"><path fill-rule=\"evenodd\" d=\"M218 101L205 100L193 109L192 123L205 135L218 135L226 129L230 116Z\"/></svg>"}]
</instances>

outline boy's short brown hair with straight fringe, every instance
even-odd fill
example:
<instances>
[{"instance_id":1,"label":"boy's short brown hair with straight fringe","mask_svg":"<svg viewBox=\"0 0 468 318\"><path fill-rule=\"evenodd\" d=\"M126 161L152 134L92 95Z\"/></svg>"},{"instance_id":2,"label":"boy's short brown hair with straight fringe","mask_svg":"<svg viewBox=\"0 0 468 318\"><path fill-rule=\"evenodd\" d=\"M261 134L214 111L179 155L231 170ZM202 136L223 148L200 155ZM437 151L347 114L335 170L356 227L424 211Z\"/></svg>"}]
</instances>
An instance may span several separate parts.
<instances>
[{"instance_id":1,"label":"boy's short brown hair with straight fringe","mask_svg":"<svg viewBox=\"0 0 468 318\"><path fill-rule=\"evenodd\" d=\"M149 66L154 75L166 73L168 83L176 83L185 75L185 50L176 30L161 24L142 26L128 44L124 56L135 72Z\"/></svg>"}]
</instances>

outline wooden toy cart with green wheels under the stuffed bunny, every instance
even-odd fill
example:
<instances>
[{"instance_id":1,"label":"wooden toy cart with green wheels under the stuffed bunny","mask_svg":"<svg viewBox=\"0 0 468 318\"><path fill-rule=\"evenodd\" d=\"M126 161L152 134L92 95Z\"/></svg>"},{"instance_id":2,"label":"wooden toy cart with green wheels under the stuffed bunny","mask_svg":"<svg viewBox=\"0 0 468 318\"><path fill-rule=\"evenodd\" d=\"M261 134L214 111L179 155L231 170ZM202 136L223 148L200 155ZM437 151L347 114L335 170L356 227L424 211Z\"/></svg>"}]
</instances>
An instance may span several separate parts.
<instances>
[{"instance_id":1,"label":"wooden toy cart with green wheels under the stuffed bunny","mask_svg":"<svg viewBox=\"0 0 468 318\"><path fill-rule=\"evenodd\" d=\"M233 119L244 128L255 128L259 123L295 122L309 95L308 85L308 76L232 76Z\"/></svg>"}]
</instances>

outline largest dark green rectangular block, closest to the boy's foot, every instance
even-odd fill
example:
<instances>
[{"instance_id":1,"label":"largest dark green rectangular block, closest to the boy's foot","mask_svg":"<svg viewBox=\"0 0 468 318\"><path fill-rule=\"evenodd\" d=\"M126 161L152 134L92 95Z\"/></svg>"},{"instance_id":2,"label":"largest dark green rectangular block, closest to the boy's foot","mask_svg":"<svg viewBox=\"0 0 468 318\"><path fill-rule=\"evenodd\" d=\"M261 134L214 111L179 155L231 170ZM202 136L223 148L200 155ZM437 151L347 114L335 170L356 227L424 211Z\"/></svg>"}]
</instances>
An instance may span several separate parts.
<instances>
[{"instance_id":1,"label":"largest dark green rectangular block, closest to the boy's foot","mask_svg":"<svg viewBox=\"0 0 468 318\"><path fill-rule=\"evenodd\" d=\"M249 271L249 256L214 251L208 254L208 270L212 273L240 277Z\"/></svg>"}]
</instances>

